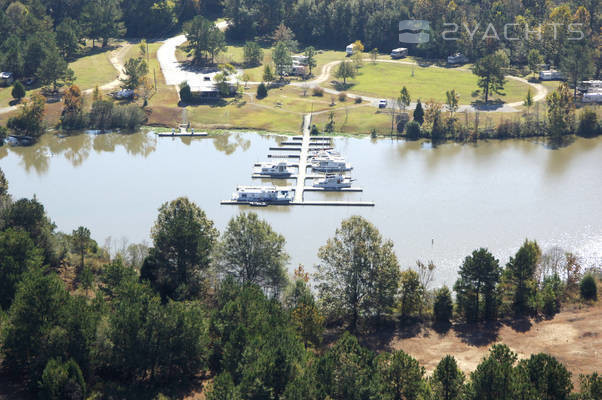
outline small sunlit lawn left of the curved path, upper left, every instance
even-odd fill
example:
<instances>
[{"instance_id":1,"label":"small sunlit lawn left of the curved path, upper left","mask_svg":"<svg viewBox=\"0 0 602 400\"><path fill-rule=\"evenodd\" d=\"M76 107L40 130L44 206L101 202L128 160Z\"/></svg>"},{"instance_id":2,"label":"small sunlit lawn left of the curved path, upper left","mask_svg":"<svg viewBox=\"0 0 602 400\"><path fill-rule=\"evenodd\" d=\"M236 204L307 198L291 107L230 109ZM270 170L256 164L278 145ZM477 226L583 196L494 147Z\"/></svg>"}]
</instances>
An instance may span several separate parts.
<instances>
[{"instance_id":1,"label":"small sunlit lawn left of the curved path, upper left","mask_svg":"<svg viewBox=\"0 0 602 400\"><path fill-rule=\"evenodd\" d=\"M97 49L98 50L98 49ZM110 50L78 58L69 64L75 72L75 84L80 89L90 89L96 85L104 85L119 77L119 72L113 67Z\"/></svg>"}]
</instances>

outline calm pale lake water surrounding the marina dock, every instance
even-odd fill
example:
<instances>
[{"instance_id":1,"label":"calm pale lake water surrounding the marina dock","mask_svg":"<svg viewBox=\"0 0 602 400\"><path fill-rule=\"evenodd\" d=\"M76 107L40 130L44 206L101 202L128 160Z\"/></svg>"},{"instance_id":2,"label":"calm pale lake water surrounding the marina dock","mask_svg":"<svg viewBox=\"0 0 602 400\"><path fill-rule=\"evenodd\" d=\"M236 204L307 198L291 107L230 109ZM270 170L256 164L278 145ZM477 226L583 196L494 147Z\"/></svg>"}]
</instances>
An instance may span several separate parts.
<instances>
[{"instance_id":1,"label":"calm pale lake water surrounding the marina dock","mask_svg":"<svg viewBox=\"0 0 602 400\"><path fill-rule=\"evenodd\" d=\"M187 196L223 230L248 207L221 206L250 184L252 164L282 137L232 133L203 139L153 134L45 135L32 147L0 148L13 197L34 194L58 229L79 225L103 244L149 240L157 209ZM543 142L478 144L338 138L363 193L306 193L306 199L370 200L373 208L267 207L253 211L287 239L291 268L313 270L318 248L341 220L359 214L395 243L402 266L432 259L436 284L453 284L462 259L488 247L505 264L537 239L602 264L602 137L551 149ZM256 182L259 183L259 182Z\"/></svg>"}]
</instances>

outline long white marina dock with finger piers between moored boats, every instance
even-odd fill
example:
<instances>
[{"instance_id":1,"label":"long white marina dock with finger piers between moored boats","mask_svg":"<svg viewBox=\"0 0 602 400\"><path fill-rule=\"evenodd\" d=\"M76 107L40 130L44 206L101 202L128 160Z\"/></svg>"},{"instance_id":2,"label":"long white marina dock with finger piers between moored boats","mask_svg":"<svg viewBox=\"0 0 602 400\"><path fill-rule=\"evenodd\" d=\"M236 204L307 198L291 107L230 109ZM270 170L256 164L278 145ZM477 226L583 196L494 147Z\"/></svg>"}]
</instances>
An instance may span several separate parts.
<instances>
[{"instance_id":1,"label":"long white marina dock with finger piers between moored boats","mask_svg":"<svg viewBox=\"0 0 602 400\"><path fill-rule=\"evenodd\" d=\"M358 193L363 192L362 188L349 187L340 189L324 189L321 187L306 186L305 181L307 179L320 179L323 178L322 174L308 174L307 167L310 166L310 151L315 150L332 150L332 137L312 137L310 135L311 127L311 114L303 116L303 136L293 136L290 140L286 140L280 143L280 147L270 147L270 151L278 152L278 154L268 154L268 158L277 159L295 159L295 162L287 162L288 167L297 167L298 172L296 174L290 174L288 176L273 176L273 175L262 175L254 170L251 178L253 179L295 179L295 185L293 187L283 186L279 190L289 190L294 192L294 198L288 203L268 205L283 205L283 206L340 206L340 207L374 207L374 202L371 201L349 201L349 200L310 200L304 199L305 192L328 192L328 193ZM290 152L293 154L282 154L281 152ZM298 161L297 161L298 159ZM254 167L260 167L262 164L255 163ZM220 204L223 205L262 205L265 203L244 203L235 200L223 200Z\"/></svg>"}]
</instances>

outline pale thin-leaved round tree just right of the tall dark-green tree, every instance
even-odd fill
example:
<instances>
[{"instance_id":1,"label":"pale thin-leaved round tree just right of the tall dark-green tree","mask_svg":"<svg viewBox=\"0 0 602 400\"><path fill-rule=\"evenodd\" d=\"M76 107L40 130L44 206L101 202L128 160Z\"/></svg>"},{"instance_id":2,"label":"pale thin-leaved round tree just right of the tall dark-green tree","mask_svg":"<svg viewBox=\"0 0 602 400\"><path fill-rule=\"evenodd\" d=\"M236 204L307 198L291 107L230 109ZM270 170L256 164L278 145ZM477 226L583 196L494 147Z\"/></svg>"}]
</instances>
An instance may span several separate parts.
<instances>
[{"instance_id":1,"label":"pale thin-leaved round tree just right of the tall dark-green tree","mask_svg":"<svg viewBox=\"0 0 602 400\"><path fill-rule=\"evenodd\" d=\"M257 214L241 213L230 220L217 247L217 273L277 295L287 281L285 244L284 236Z\"/></svg>"}]
</instances>

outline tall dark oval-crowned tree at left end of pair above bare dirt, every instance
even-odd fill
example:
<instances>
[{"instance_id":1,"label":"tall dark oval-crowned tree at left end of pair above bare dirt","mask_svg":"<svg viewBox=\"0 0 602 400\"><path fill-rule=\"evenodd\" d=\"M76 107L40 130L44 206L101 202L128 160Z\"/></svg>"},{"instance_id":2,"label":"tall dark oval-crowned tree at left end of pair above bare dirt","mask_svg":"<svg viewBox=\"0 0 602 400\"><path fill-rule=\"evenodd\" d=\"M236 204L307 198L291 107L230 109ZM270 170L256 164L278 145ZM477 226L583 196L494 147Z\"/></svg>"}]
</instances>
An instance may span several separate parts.
<instances>
[{"instance_id":1,"label":"tall dark oval-crowned tree at left end of pair above bare dirt","mask_svg":"<svg viewBox=\"0 0 602 400\"><path fill-rule=\"evenodd\" d=\"M464 259L454 290L458 310L467 321L495 318L500 273L498 260L487 249L475 250Z\"/></svg>"}]
</instances>

